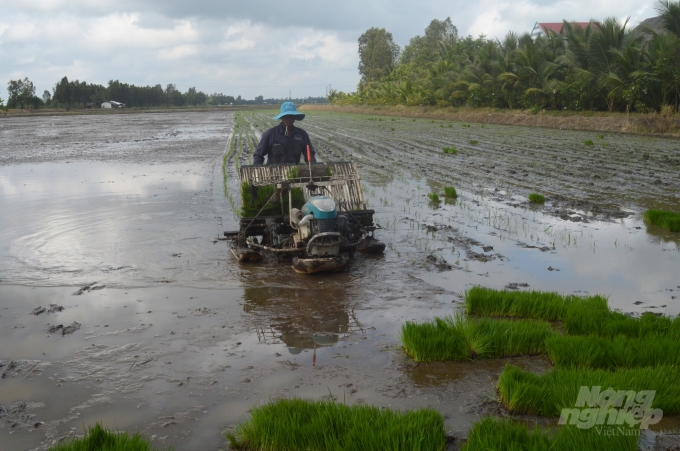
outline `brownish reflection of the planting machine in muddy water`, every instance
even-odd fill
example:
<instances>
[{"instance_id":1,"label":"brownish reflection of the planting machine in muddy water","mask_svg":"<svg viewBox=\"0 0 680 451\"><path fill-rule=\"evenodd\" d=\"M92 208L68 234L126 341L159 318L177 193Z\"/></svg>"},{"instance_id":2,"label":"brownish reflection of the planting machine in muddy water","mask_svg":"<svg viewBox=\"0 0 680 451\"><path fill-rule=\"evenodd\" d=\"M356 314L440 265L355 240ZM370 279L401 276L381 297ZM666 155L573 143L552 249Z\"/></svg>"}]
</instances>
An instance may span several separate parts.
<instances>
[{"instance_id":1,"label":"brownish reflection of the planting machine in muddy water","mask_svg":"<svg viewBox=\"0 0 680 451\"><path fill-rule=\"evenodd\" d=\"M312 281L316 282L316 281ZM364 328L349 307L344 287L245 288L245 312L253 315L260 343L284 344L290 354L329 347Z\"/></svg>"}]
</instances>

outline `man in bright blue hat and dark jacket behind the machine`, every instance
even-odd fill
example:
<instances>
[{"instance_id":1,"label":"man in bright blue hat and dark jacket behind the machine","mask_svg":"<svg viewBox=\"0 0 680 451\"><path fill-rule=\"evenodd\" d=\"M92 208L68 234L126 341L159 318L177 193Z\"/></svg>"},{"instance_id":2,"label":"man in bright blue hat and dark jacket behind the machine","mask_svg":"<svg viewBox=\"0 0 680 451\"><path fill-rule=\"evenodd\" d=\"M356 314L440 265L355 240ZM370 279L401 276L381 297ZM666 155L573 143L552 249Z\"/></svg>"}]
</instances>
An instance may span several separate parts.
<instances>
[{"instance_id":1,"label":"man in bright blue hat and dark jacket behind the machine","mask_svg":"<svg viewBox=\"0 0 680 451\"><path fill-rule=\"evenodd\" d=\"M274 116L274 120L281 119L281 123L270 128L262 134L262 139L253 154L253 164L264 164L267 156L267 164L298 164L300 156L307 161L307 146L315 162L314 147L309 141L309 135L301 128L293 124L296 120L301 121L305 115L295 109L293 102L284 102L281 112Z\"/></svg>"}]
</instances>

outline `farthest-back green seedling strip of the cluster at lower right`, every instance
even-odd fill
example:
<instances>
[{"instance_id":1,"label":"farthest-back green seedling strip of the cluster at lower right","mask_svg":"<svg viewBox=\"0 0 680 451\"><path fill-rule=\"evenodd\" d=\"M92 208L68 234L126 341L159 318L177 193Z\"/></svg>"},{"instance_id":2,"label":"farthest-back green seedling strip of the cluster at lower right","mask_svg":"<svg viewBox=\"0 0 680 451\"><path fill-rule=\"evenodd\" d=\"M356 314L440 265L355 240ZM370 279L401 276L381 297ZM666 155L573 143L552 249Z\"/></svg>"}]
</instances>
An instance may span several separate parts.
<instances>
[{"instance_id":1,"label":"farthest-back green seedling strip of the cluster at lower right","mask_svg":"<svg viewBox=\"0 0 680 451\"><path fill-rule=\"evenodd\" d=\"M562 321L568 310L609 312L601 296L579 298L542 291L493 290L473 287L465 292L467 313L477 316L509 316L545 321Z\"/></svg>"}]
</instances>

